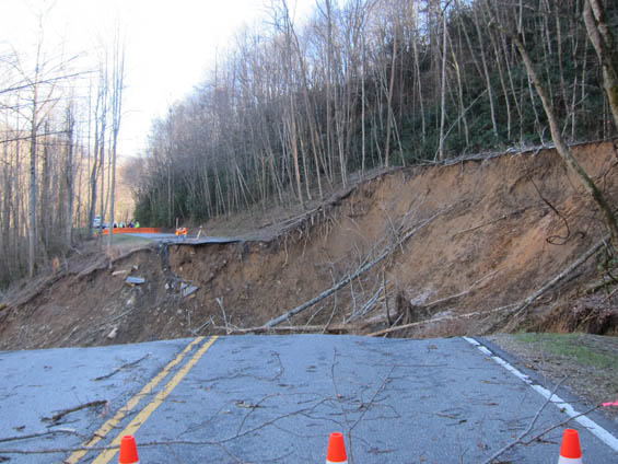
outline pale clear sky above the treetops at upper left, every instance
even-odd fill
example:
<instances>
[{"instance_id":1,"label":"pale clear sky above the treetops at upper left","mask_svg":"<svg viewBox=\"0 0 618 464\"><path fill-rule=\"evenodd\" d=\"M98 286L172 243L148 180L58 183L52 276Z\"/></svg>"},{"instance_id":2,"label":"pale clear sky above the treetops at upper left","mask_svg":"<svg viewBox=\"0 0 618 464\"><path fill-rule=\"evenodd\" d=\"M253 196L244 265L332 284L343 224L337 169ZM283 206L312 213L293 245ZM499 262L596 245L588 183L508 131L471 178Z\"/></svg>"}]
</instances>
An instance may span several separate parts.
<instances>
[{"instance_id":1,"label":"pale clear sky above the treetops at upper left","mask_svg":"<svg viewBox=\"0 0 618 464\"><path fill-rule=\"evenodd\" d=\"M296 18L315 0L296 3ZM137 154L154 117L182 100L205 77L217 50L243 24L268 18L270 0L0 0L0 42L16 50L36 44L37 16L45 15L44 44L88 53L109 42L116 24L126 35L120 154Z\"/></svg>"}]
</instances>

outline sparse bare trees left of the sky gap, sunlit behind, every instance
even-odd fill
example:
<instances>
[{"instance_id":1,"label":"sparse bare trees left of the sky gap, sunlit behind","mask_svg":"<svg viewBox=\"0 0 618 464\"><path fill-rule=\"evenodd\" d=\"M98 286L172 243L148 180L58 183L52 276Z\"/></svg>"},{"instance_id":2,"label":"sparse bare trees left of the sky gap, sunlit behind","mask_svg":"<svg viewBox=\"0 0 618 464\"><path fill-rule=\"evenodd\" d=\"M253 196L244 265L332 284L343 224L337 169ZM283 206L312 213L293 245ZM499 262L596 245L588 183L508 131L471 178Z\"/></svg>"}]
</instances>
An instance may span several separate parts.
<instances>
[{"instance_id":1,"label":"sparse bare trees left of the sky gap, sunlit behind","mask_svg":"<svg viewBox=\"0 0 618 464\"><path fill-rule=\"evenodd\" d=\"M66 266L96 216L132 214L130 194L116 188L124 37L116 30L73 55L70 36L55 42L56 3L28 5L37 26L25 43L0 39L0 290Z\"/></svg>"}]
</instances>

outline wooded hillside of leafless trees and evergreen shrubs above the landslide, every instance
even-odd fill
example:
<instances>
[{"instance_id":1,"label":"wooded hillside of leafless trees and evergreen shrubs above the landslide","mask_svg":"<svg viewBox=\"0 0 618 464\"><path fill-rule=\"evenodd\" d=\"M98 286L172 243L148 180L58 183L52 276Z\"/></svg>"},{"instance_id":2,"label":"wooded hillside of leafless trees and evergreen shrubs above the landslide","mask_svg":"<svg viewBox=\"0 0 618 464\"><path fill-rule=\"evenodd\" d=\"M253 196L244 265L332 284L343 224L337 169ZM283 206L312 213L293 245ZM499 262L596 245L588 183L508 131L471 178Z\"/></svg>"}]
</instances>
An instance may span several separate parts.
<instances>
[{"instance_id":1,"label":"wooded hillside of leafless trees and evergreen shrubs above the landslide","mask_svg":"<svg viewBox=\"0 0 618 464\"><path fill-rule=\"evenodd\" d=\"M611 37L618 4L591 3ZM136 161L137 214L171 227L304 205L375 166L551 144L523 54L563 140L607 138L615 123L586 4L318 0L293 22L293 1L273 1L269 19L240 31L208 79L153 125Z\"/></svg>"}]
</instances>

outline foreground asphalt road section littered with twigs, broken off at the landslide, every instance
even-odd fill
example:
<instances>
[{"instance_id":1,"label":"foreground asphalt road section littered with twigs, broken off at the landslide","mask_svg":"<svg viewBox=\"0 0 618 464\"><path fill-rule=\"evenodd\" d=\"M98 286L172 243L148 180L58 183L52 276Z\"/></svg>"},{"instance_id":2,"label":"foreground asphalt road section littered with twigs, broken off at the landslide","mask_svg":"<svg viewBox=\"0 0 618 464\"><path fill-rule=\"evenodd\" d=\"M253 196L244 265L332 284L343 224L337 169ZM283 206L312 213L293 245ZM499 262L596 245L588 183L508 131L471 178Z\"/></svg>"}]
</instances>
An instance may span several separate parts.
<instances>
[{"instance_id":1,"label":"foreground asphalt road section littered with twigs, broken off at the landslide","mask_svg":"<svg viewBox=\"0 0 618 464\"><path fill-rule=\"evenodd\" d=\"M482 463L533 418L530 437L568 419L559 406L463 338L248 335L4 351L0 462L115 463L101 448L131 432L144 464L324 463L329 433L341 431L350 463ZM618 462L618 449L570 427L584 462ZM605 427L616 440L618 427ZM563 429L500 462L555 464ZM94 451L71 453L86 443Z\"/></svg>"}]
</instances>

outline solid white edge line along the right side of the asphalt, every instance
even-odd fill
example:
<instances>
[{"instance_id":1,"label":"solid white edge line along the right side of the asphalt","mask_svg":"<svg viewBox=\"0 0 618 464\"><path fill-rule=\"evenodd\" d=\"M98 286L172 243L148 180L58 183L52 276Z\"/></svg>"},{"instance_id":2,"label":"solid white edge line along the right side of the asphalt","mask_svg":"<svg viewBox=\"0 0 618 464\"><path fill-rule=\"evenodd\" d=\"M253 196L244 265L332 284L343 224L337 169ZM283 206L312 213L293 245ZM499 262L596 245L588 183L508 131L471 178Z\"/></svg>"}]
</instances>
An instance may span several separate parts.
<instances>
[{"instance_id":1,"label":"solid white edge line along the right side of the asphalt","mask_svg":"<svg viewBox=\"0 0 618 464\"><path fill-rule=\"evenodd\" d=\"M491 358L498 364L502 366L504 369L506 369L517 379L528 384L534 391L536 391L544 398L549 399L551 403L556 405L556 407L567 413L569 417L574 417L573 420L575 420L576 422L585 427L587 430L590 430L592 433L594 433L596 438L598 438L600 441L603 441L614 451L618 452L618 438L614 437L609 431L605 430L603 427L600 427L598 424L587 418L586 416L580 416L581 413L578 413L571 404L567 403L558 395L552 395L549 390L543 387L541 385L535 384L528 375L526 375L518 369L514 368L512 364L510 364L499 356L493 355L488 348L479 344L474 338L469 338L469 337L462 337L462 338L464 338L464 340L466 340L470 345L477 347L480 352Z\"/></svg>"}]
</instances>

